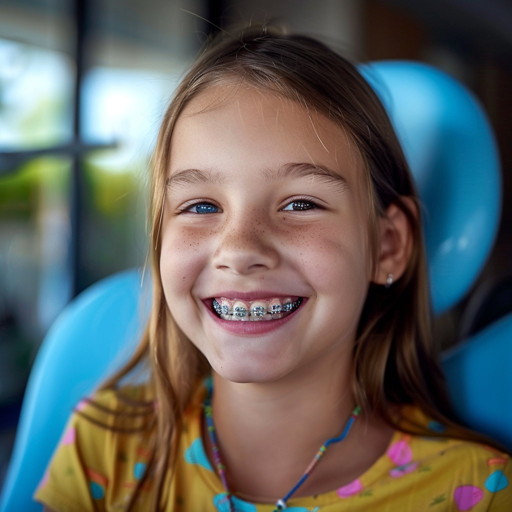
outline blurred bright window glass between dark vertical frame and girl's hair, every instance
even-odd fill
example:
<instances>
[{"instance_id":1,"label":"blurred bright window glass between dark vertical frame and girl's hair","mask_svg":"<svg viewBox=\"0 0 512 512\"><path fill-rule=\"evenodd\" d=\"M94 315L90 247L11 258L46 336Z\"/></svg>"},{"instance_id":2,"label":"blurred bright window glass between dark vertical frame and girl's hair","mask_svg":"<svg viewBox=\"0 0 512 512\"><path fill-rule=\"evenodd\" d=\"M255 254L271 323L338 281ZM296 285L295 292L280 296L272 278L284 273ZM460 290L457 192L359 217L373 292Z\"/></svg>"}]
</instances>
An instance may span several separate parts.
<instances>
[{"instance_id":1,"label":"blurred bright window glass between dark vertical frame and girl's hair","mask_svg":"<svg viewBox=\"0 0 512 512\"><path fill-rule=\"evenodd\" d=\"M80 288L144 262L147 165L179 73L98 67L84 77L83 141L116 148L84 160Z\"/></svg>"}]
</instances>

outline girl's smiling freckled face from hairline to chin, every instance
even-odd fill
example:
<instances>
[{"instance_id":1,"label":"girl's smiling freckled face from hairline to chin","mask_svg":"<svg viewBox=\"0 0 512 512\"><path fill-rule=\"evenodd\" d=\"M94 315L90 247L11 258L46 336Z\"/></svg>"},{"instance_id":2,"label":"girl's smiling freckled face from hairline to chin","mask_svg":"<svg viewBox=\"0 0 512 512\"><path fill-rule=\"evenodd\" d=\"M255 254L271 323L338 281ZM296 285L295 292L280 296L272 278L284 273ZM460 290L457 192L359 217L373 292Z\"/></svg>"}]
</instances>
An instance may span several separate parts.
<instances>
[{"instance_id":1,"label":"girl's smiling freckled face from hairline to chin","mask_svg":"<svg viewBox=\"0 0 512 512\"><path fill-rule=\"evenodd\" d=\"M212 88L177 121L168 177L165 298L217 373L264 382L350 357L370 280L369 214L342 127L270 94ZM230 312L239 299L244 319L217 314L215 297ZM281 319L248 317L297 297Z\"/></svg>"}]
</instances>

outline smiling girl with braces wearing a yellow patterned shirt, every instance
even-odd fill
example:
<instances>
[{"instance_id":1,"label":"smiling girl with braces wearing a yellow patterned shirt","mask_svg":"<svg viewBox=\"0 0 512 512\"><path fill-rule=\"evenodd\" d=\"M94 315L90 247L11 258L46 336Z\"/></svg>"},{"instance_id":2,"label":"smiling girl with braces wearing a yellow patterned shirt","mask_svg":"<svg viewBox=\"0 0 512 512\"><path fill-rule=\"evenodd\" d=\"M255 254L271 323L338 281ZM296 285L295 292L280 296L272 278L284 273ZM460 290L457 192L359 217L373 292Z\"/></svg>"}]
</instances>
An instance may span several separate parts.
<instances>
[{"instance_id":1,"label":"smiling girl with braces wearing a yellow patterned shirt","mask_svg":"<svg viewBox=\"0 0 512 512\"><path fill-rule=\"evenodd\" d=\"M47 510L512 509L508 455L452 419L418 199L352 63L266 26L210 41L152 219L150 321L78 404Z\"/></svg>"}]
</instances>

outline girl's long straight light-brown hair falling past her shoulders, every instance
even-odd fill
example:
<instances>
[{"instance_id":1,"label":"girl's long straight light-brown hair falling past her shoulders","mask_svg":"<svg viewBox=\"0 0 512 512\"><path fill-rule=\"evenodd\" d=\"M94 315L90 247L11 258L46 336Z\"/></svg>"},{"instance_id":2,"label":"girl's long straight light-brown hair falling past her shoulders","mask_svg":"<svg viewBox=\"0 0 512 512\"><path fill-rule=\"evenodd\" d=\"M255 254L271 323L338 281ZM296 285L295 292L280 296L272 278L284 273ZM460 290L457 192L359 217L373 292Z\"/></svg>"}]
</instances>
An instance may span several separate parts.
<instances>
[{"instance_id":1,"label":"girl's long straight light-brown hair falling past her shoulders","mask_svg":"<svg viewBox=\"0 0 512 512\"><path fill-rule=\"evenodd\" d=\"M188 102L209 87L233 83L299 103L348 132L365 168L374 268L378 257L378 219L386 215L388 206L398 206L411 225L413 249L406 271L391 288L371 284L368 290L353 348L356 403L395 428L392 411L401 404L413 404L451 427L454 437L489 443L458 426L453 419L431 333L419 200L407 161L377 95L354 63L315 39L287 34L268 25L232 34L221 31L208 39L163 116L151 168L150 318L131 360L102 386L121 394L123 378L145 362L151 366L150 383L158 404L153 411L155 421L150 422L154 425L153 456L129 509L148 478L153 480L154 509L159 509L167 481L165 475L175 465L185 408L198 382L211 371L206 358L180 331L167 308L159 270L159 232L173 130ZM403 196L415 203L416 211L408 207ZM400 428L412 433L420 431L413 423Z\"/></svg>"}]
</instances>

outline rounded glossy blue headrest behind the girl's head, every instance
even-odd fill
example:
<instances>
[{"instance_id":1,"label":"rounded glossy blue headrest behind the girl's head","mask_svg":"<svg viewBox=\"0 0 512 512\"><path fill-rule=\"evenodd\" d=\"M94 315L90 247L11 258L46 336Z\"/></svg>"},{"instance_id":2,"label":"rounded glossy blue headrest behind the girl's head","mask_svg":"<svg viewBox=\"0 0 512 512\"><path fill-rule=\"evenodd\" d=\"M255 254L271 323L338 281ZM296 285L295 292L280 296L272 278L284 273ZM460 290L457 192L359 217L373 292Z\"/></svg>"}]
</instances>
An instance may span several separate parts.
<instances>
[{"instance_id":1,"label":"rounded glossy blue headrest behind the girl's head","mask_svg":"<svg viewBox=\"0 0 512 512\"><path fill-rule=\"evenodd\" d=\"M379 61L361 72L384 104L423 203L435 313L471 288L492 249L501 211L497 144L478 100L442 71Z\"/></svg>"}]
</instances>

